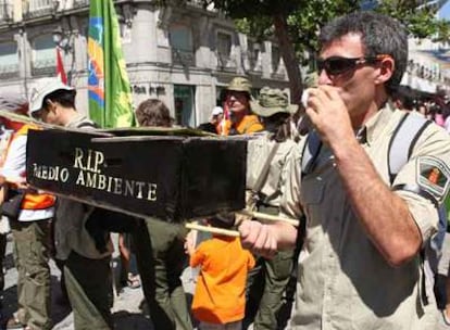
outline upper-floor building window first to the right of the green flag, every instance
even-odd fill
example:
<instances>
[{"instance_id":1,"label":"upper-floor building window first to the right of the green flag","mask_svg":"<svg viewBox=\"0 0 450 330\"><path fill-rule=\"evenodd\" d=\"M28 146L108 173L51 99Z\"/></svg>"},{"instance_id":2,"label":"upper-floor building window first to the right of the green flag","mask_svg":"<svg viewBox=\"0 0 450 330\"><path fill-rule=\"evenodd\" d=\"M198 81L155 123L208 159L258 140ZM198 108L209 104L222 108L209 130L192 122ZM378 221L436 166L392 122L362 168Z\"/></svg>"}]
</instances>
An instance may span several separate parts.
<instances>
[{"instance_id":1,"label":"upper-floor building window first to the right of the green flag","mask_svg":"<svg viewBox=\"0 0 450 330\"><path fill-rule=\"evenodd\" d=\"M184 25L173 25L168 39L172 47L172 63L193 65L192 31Z\"/></svg>"}]
</instances>

